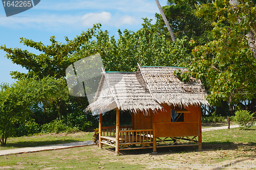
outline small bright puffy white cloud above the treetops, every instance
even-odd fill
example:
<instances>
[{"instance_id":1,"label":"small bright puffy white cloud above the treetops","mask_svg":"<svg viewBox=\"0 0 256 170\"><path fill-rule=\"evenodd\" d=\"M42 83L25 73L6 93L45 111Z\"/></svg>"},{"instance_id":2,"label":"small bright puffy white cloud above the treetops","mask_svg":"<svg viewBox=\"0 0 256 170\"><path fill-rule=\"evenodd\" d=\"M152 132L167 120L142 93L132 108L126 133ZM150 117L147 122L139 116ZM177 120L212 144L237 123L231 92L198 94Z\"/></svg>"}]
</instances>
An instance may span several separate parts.
<instances>
[{"instance_id":1,"label":"small bright puffy white cloud above the treetops","mask_svg":"<svg viewBox=\"0 0 256 170\"><path fill-rule=\"evenodd\" d=\"M88 13L81 17L81 22L83 26L93 26L94 23L108 23L112 18L112 14L110 12L101 12L101 13Z\"/></svg>"}]
</instances>

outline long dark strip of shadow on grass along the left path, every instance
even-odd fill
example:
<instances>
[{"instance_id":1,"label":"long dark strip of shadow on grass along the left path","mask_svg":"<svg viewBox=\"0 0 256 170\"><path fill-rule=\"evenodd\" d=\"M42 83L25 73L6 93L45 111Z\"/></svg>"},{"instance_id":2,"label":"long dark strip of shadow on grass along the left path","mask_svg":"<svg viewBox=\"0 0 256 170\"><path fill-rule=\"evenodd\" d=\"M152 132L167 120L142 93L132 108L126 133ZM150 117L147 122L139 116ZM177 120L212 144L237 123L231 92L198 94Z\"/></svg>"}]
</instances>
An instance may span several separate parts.
<instances>
[{"instance_id":1,"label":"long dark strip of shadow on grass along the left path","mask_svg":"<svg viewBox=\"0 0 256 170\"><path fill-rule=\"evenodd\" d=\"M58 140L48 140L48 141L19 141L16 143L6 143L6 145L0 147L0 150L25 148L25 147L39 147L44 145L63 144L63 143L71 143L71 142L77 142L77 140L58 139Z\"/></svg>"}]
</instances>

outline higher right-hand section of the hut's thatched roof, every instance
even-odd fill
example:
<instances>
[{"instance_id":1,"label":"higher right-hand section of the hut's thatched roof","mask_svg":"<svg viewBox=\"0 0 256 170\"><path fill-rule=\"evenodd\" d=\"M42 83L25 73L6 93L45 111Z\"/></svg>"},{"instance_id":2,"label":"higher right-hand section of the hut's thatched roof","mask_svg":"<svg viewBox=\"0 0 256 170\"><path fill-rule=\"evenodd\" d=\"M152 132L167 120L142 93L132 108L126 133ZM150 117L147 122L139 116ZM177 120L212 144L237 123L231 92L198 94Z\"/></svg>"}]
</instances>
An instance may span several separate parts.
<instances>
[{"instance_id":1,"label":"higher right-hand section of the hut's thatched roof","mask_svg":"<svg viewBox=\"0 0 256 170\"><path fill-rule=\"evenodd\" d=\"M161 104L174 107L189 105L209 105L205 100L206 91L200 80L190 78L189 82L182 82L174 71L188 71L183 67L139 67L147 88L153 98Z\"/></svg>"}]
</instances>

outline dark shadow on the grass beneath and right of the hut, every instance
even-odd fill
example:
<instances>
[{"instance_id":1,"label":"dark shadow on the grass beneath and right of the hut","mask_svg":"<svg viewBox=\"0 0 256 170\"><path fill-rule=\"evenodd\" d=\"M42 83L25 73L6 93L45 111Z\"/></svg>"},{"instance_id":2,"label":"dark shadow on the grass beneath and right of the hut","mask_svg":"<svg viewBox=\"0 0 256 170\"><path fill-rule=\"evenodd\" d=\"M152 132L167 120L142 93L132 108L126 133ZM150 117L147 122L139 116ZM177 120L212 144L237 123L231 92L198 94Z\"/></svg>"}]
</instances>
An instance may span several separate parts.
<instances>
[{"instance_id":1,"label":"dark shadow on the grass beneath and right of the hut","mask_svg":"<svg viewBox=\"0 0 256 170\"><path fill-rule=\"evenodd\" d=\"M141 155L141 154L166 155L166 154L216 151L216 150L236 150L236 149L255 147L255 146L256 146L256 142L249 142L249 143L203 142L202 143L203 150L201 151L198 151L197 146L185 146L185 147L157 148L157 154L152 154L153 149L119 151L119 154L120 155ZM112 151L113 154L115 153L115 148L109 148L108 150Z\"/></svg>"}]
</instances>

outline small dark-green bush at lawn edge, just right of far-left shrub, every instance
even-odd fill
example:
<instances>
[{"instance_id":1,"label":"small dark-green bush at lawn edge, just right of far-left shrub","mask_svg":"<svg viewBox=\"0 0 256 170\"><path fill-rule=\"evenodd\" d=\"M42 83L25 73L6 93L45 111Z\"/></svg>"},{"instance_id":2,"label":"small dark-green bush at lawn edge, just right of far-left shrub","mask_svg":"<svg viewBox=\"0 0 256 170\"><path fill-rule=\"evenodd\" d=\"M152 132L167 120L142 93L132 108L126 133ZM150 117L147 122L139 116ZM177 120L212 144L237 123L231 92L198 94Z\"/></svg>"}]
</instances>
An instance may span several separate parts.
<instances>
[{"instance_id":1,"label":"small dark-green bush at lawn edge, just right of far-left shrub","mask_svg":"<svg viewBox=\"0 0 256 170\"><path fill-rule=\"evenodd\" d=\"M33 135L35 133L40 133L40 125L35 123L34 119L30 119L28 122L22 123L15 129L17 137Z\"/></svg>"}]
</instances>

